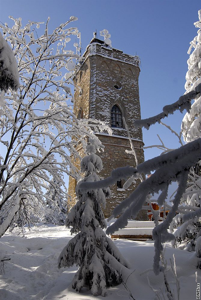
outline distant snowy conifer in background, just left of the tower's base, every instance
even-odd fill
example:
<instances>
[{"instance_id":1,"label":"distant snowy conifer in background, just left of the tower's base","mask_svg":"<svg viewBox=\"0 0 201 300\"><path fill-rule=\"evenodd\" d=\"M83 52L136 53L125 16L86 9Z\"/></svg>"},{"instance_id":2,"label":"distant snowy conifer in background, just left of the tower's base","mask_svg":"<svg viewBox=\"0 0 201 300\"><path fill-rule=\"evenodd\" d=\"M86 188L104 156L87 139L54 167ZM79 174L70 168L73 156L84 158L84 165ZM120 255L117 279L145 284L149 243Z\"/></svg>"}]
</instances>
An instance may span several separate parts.
<instances>
[{"instance_id":1,"label":"distant snowy conifer in background, just left of the tower's base","mask_svg":"<svg viewBox=\"0 0 201 300\"><path fill-rule=\"evenodd\" d=\"M65 195L61 197L57 192L58 185L61 186L59 182L54 181L54 185L50 186L45 195L44 221L54 225L64 225L68 213L67 199L65 199Z\"/></svg>"}]
</instances>

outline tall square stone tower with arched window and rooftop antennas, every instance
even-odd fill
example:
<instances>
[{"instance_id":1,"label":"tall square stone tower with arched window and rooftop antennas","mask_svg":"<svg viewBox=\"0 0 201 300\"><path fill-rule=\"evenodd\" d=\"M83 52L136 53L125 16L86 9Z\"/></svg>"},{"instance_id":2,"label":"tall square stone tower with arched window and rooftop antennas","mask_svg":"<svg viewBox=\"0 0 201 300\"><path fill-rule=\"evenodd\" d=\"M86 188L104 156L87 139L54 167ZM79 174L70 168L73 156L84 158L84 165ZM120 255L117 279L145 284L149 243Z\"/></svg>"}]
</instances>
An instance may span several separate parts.
<instances>
[{"instance_id":1,"label":"tall square stone tower with arched window and rooftop antennas","mask_svg":"<svg viewBox=\"0 0 201 300\"><path fill-rule=\"evenodd\" d=\"M134 119L140 119L139 57L123 53L111 48L94 37L83 55L83 63L78 69L74 82L81 89L75 92L74 113L81 119L98 119L111 124L112 136L106 133L97 134L105 146L104 152L98 153L103 162L100 178L107 178L117 167L136 166L133 155L125 150L131 150L127 131L124 128L124 117L129 128L130 136L136 150L138 162L144 161L144 143L142 130L133 126ZM80 152L81 153L81 152ZM82 156L82 153L81 153ZM110 187L111 198L106 199L105 217L134 189L123 189L122 181ZM69 178L69 194L72 204L75 204L76 181ZM148 220L145 211L136 218Z\"/></svg>"}]
</instances>

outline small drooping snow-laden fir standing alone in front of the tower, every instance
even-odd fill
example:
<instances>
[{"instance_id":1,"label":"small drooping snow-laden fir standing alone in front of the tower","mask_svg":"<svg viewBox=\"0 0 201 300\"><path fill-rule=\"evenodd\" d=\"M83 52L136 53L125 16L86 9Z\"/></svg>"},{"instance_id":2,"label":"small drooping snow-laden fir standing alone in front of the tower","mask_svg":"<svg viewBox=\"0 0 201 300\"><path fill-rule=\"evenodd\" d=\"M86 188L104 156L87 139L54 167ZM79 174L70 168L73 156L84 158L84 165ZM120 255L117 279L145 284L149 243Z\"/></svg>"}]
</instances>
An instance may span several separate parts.
<instances>
[{"instance_id":1,"label":"small drooping snow-laden fir standing alone in front of the tower","mask_svg":"<svg viewBox=\"0 0 201 300\"><path fill-rule=\"evenodd\" d=\"M105 197L110 195L109 188L82 191L81 183L99 182L96 172L102 170L101 158L96 155L100 148L97 138L89 138L87 153L81 160L81 172L85 173L76 186L77 203L70 210L66 226L72 226L71 233L77 233L62 250L58 266L79 266L72 282L76 291L88 285L93 295L106 295L106 286L121 282L121 270L127 267L126 260L102 230L106 227L101 206L105 207Z\"/></svg>"}]
</instances>

